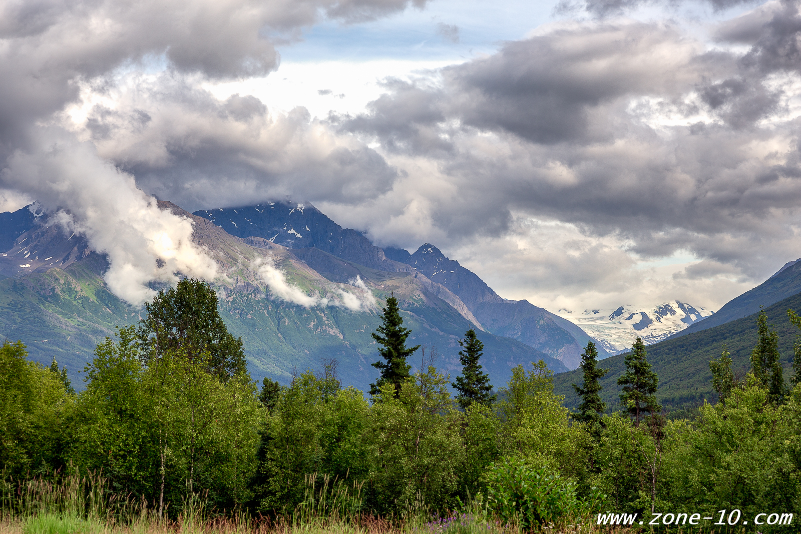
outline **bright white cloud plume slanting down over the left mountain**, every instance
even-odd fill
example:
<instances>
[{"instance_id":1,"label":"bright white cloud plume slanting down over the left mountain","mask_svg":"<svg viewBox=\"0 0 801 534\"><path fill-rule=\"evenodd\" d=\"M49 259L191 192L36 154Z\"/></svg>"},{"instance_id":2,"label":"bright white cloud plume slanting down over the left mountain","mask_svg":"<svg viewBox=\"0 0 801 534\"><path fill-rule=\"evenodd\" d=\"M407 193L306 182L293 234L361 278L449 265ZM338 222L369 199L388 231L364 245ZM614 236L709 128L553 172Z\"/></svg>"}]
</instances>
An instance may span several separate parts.
<instances>
[{"instance_id":1,"label":"bright white cloud plume slanting down over the left mountain","mask_svg":"<svg viewBox=\"0 0 801 534\"><path fill-rule=\"evenodd\" d=\"M108 255L104 278L115 295L139 305L155 295L147 287L153 280L175 283L178 273L215 278L216 265L193 243L189 219L159 210L131 175L103 163L90 144L47 133L40 143L46 149L15 152L2 179L53 207L58 224Z\"/></svg>"}]
</instances>

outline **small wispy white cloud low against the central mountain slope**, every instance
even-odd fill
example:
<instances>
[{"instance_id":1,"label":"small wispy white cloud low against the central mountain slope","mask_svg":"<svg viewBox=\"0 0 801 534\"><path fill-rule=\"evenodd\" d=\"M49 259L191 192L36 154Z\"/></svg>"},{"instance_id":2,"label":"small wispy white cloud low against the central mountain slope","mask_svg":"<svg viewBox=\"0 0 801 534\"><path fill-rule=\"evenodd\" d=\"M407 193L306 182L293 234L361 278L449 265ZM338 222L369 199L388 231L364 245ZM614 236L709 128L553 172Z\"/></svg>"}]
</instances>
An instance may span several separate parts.
<instances>
[{"instance_id":1,"label":"small wispy white cloud low against the central mountain slope","mask_svg":"<svg viewBox=\"0 0 801 534\"><path fill-rule=\"evenodd\" d=\"M346 289L344 284L329 284L324 288L326 295L321 296L317 292L308 295L296 284L290 283L284 271L278 269L272 259L256 259L253 268L267 284L273 299L307 308L333 306L344 307L350 311L368 311L377 307L375 296L359 275L351 280L351 287Z\"/></svg>"}]
</instances>

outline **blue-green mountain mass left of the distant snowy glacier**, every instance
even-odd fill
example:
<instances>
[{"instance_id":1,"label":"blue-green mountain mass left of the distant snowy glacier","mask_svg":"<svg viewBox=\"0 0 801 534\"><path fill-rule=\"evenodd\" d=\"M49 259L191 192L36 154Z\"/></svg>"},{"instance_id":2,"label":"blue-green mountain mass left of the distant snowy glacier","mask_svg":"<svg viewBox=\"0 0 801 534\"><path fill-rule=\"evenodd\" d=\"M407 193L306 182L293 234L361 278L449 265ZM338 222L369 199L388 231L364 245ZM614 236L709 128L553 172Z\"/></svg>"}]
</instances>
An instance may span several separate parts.
<instances>
[{"instance_id":1,"label":"blue-green mountain mass left of the distant snowy glacier","mask_svg":"<svg viewBox=\"0 0 801 534\"><path fill-rule=\"evenodd\" d=\"M388 259L360 232L342 229L310 205L236 208L231 210L235 216L227 217L227 227L221 224L227 210L203 212L204 218L171 203L159 202L159 207L191 219L193 239L209 251L224 275L212 284L220 295L219 311L229 330L244 339L255 379L269 375L286 383L294 372L316 370L322 359L336 358L343 382L366 389L377 377L370 363L379 358L370 333L380 324L380 306L390 293L399 299L405 323L413 330L409 342L423 344L429 355L437 352L437 367L453 375L461 371L458 340L469 328L477 329L485 343L482 363L496 386L505 383L518 363L530 365L543 359L553 371L567 371L562 359L570 351L559 343L573 351L578 344L574 335L559 331L557 322L547 315L541 318L542 335L531 339L503 335L504 326L514 320L523 324L541 308L525 301L505 302L496 295L493 305L505 303L509 310L523 311L506 312L508 317L496 321L501 324L498 327L479 306L475 309L481 309L483 319L478 319L449 285L429 278L412 264ZM112 335L116 326L139 321L141 309L109 291L103 279L107 260L92 251L83 237L65 233L46 215L31 218L21 212L14 214L27 218L24 231L0 227L0 237L11 243L0 256L0 335L21 339L34 360L50 363L55 357L79 387L78 371L91 359L95 344ZM252 219L247 221L252 226L246 226L239 215ZM274 231L276 227L279 231ZM228 228L243 236L232 235ZM280 271L288 287L297 288L308 299L314 295L314 303L304 306L282 298L265 282L266 265ZM461 272L477 279L466 269ZM469 297L465 291L461 295ZM573 330L582 334L578 327ZM534 338L541 348L526 343L534 343ZM414 359L410 363L413 367L422 364Z\"/></svg>"}]
</instances>

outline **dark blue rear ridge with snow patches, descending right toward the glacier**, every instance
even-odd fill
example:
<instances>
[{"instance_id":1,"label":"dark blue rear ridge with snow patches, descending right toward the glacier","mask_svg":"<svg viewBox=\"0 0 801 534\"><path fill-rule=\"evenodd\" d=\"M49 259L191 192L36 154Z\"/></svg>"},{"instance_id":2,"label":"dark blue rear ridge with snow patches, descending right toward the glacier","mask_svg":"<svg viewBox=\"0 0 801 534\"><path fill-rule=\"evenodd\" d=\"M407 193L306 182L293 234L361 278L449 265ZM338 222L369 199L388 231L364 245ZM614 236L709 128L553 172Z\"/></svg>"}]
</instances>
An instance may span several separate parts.
<instances>
[{"instance_id":1,"label":"dark blue rear ridge with snow patches, descending right toward the glacier","mask_svg":"<svg viewBox=\"0 0 801 534\"><path fill-rule=\"evenodd\" d=\"M403 249L376 247L360 232L344 229L309 203L265 203L195 211L231 235L267 239L292 248L313 269L326 275L328 266L316 263L316 251L381 271L415 272L435 283L461 315L483 331L517 339L574 369L586 344L593 339L570 321L525 300L502 299L481 278L425 243L414 254ZM343 278L340 276L339 280ZM607 353L602 351L602 355Z\"/></svg>"}]
</instances>

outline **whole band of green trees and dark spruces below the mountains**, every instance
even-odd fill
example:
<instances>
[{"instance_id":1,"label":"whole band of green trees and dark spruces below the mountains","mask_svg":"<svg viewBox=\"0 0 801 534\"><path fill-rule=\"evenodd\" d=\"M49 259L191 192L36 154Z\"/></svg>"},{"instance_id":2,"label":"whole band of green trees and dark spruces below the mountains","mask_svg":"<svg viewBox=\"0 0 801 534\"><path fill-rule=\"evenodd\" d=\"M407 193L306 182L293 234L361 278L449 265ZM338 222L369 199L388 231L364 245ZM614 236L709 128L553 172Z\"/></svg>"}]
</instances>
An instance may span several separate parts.
<instances>
[{"instance_id":1,"label":"whole band of green trees and dark spruces below the mountains","mask_svg":"<svg viewBox=\"0 0 801 534\"><path fill-rule=\"evenodd\" d=\"M514 367L494 395L475 331L461 340L460 376L433 365L412 374L406 359L421 349L406 345L394 297L373 335L381 374L368 398L341 387L334 360L287 386L257 387L241 340L218 319L204 283L159 293L139 327L97 347L78 395L57 366L5 343L2 491L102 471L112 492L166 516L195 498L219 512L290 513L313 486L312 495L347 494L349 512L472 505L523 528L598 512L801 512L801 387L777 389L769 329L755 372L739 377L725 355L716 360L725 402L705 404L695 420L667 420L642 342L620 379L625 409L609 416L592 343L576 385L582 406L571 413L541 362Z\"/></svg>"}]
</instances>

